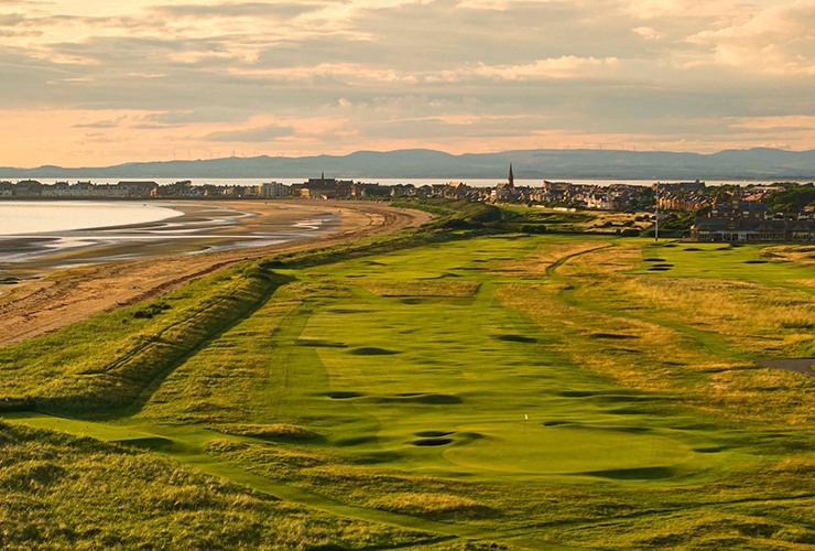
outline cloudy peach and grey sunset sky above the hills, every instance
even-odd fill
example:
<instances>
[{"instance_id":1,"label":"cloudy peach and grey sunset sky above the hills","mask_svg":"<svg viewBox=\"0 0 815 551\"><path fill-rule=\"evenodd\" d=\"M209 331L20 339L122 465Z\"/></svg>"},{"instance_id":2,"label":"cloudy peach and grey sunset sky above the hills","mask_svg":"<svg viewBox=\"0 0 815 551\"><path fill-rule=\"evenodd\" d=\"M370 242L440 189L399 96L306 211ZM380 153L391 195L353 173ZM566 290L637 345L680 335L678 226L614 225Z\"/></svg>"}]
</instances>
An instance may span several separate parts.
<instances>
[{"instance_id":1,"label":"cloudy peach and grey sunset sky above the hills","mask_svg":"<svg viewBox=\"0 0 815 551\"><path fill-rule=\"evenodd\" d=\"M0 166L815 149L815 0L0 0Z\"/></svg>"}]
</instances>

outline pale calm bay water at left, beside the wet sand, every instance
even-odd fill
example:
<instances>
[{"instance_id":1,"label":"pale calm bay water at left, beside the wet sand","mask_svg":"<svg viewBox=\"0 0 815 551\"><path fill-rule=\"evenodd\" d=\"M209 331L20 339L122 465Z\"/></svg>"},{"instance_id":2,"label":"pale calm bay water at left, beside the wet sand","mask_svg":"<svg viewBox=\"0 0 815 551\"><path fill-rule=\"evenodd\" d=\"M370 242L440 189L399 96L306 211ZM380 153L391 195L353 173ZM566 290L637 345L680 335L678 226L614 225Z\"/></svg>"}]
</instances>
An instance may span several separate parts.
<instances>
[{"instance_id":1,"label":"pale calm bay water at left, beside the wet sand","mask_svg":"<svg viewBox=\"0 0 815 551\"><path fill-rule=\"evenodd\" d=\"M165 220L183 213L133 202L0 202L0 236L69 231Z\"/></svg>"}]
</instances>

